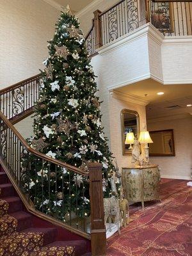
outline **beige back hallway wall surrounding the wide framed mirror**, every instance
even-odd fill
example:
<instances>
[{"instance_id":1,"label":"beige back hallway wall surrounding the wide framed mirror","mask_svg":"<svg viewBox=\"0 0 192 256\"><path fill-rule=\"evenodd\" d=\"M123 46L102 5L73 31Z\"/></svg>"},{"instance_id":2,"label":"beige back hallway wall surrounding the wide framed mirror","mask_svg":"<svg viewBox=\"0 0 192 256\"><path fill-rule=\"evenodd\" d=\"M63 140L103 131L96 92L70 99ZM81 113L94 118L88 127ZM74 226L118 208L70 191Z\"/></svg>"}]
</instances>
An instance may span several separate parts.
<instances>
[{"instance_id":1,"label":"beige back hallway wall surrounding the wide framed mirror","mask_svg":"<svg viewBox=\"0 0 192 256\"><path fill-rule=\"evenodd\" d=\"M151 163L159 164L161 177L190 179L192 171L192 116L176 120L150 122L149 131L173 129L175 157L150 157Z\"/></svg>"}]
</instances>

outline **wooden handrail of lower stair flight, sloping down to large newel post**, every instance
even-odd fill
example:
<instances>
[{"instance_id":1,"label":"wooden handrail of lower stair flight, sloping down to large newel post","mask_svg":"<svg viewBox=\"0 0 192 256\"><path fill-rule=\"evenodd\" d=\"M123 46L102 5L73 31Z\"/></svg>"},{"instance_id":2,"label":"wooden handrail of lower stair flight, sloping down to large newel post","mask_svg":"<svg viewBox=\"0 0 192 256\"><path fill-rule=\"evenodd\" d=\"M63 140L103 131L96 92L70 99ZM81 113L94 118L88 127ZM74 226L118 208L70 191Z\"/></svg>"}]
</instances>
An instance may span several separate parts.
<instances>
[{"instance_id":1,"label":"wooden handrail of lower stair flight, sloping down to large newel post","mask_svg":"<svg viewBox=\"0 0 192 256\"><path fill-rule=\"evenodd\" d=\"M22 137L22 135L19 133L19 131L17 131L17 129L12 125L12 123L6 118L6 116L3 115L3 113L0 111L0 118L3 120L3 122L12 130L13 134L15 134L15 136L17 136L17 138L22 142L22 144L24 145L24 147L26 147L26 149L31 153L34 154L37 157L40 157L42 159L44 159L45 161L49 161L51 163L57 164L58 166L67 168L68 170L71 170L75 173L78 173L80 175L89 175L88 172L83 172L81 171L79 168L77 168L76 166L72 166L70 164L67 163L63 163L60 160L57 159L53 159L49 156L46 156L40 152L38 152L37 150L31 148L28 143L26 142L26 140Z\"/></svg>"}]
</instances>

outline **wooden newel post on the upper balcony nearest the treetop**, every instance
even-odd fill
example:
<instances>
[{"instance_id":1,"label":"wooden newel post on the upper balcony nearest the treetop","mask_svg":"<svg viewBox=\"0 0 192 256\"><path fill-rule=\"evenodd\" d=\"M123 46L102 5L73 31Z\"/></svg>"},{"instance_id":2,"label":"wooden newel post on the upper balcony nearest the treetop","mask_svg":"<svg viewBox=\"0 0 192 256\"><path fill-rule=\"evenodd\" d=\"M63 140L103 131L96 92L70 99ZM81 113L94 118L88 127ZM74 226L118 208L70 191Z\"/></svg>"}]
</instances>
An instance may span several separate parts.
<instances>
[{"instance_id":1,"label":"wooden newel post on the upper balcony nearest the treetop","mask_svg":"<svg viewBox=\"0 0 192 256\"><path fill-rule=\"evenodd\" d=\"M98 49L102 46L102 28L100 21L100 10L93 12L94 14L94 27L95 27L95 49Z\"/></svg>"}]
</instances>

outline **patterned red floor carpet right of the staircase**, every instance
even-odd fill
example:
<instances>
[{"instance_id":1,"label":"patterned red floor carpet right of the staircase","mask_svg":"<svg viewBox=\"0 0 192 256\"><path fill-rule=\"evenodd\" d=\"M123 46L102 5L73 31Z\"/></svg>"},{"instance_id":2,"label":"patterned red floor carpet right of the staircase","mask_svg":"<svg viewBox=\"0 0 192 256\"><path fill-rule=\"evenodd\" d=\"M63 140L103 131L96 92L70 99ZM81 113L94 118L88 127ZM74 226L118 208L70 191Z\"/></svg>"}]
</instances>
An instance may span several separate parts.
<instances>
[{"instance_id":1,"label":"patterned red floor carpet right of the staircase","mask_svg":"<svg viewBox=\"0 0 192 256\"><path fill-rule=\"evenodd\" d=\"M192 187L163 179L161 202L131 207L131 223L108 241L108 256L192 255ZM138 211L138 209L140 209Z\"/></svg>"}]
</instances>

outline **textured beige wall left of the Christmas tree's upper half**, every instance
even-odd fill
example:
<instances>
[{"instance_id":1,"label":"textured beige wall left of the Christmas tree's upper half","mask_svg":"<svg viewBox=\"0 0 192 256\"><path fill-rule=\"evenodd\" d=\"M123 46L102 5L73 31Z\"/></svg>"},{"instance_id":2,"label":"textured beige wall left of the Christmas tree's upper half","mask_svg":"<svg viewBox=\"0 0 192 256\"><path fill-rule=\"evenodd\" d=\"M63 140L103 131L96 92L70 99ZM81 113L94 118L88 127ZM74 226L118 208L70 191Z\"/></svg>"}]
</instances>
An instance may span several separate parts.
<instances>
[{"instance_id":1,"label":"textured beige wall left of the Christmas tree's upper half","mask_svg":"<svg viewBox=\"0 0 192 256\"><path fill-rule=\"evenodd\" d=\"M43 0L0 1L0 88L39 73L58 15Z\"/></svg>"}]
</instances>

